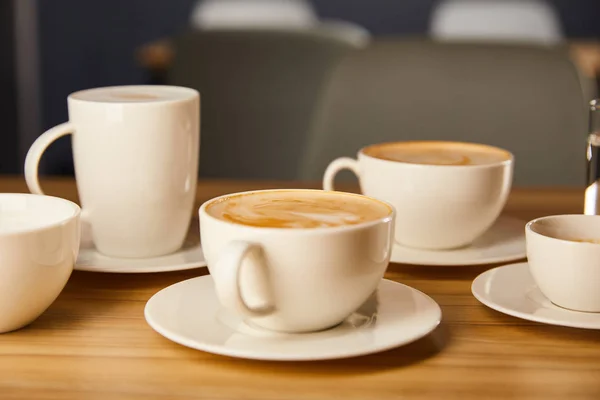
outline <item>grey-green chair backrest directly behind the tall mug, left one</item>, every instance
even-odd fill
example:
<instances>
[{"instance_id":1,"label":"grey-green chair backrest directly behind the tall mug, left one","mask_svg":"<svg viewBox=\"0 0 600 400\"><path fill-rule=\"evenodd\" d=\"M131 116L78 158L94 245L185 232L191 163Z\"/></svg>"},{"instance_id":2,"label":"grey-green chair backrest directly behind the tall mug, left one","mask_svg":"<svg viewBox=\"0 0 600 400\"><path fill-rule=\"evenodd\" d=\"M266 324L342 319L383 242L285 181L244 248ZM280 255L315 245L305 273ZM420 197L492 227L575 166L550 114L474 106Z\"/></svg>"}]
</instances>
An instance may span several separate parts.
<instances>
[{"instance_id":1,"label":"grey-green chair backrest directly behind the tall mug, left one","mask_svg":"<svg viewBox=\"0 0 600 400\"><path fill-rule=\"evenodd\" d=\"M191 31L173 39L169 84L201 94L200 175L296 177L335 63L355 47L309 31Z\"/></svg>"}]
</instances>

